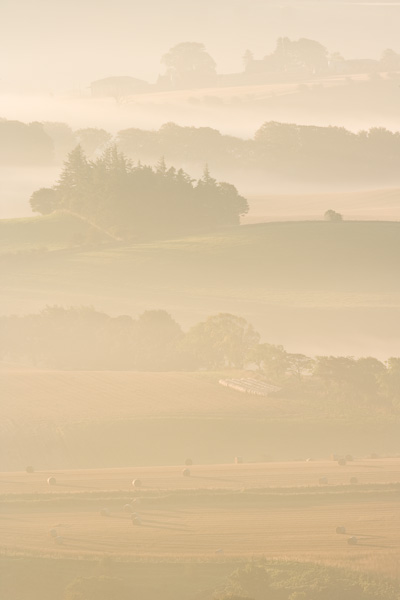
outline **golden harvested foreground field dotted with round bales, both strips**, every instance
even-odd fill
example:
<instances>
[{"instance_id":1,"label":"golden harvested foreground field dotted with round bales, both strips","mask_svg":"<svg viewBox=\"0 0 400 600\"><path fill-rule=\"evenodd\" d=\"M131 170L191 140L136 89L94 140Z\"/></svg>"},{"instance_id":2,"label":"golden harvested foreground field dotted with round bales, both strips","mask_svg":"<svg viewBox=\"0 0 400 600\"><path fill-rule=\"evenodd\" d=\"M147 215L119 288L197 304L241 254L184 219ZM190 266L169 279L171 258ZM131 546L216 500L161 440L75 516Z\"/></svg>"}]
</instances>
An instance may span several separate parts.
<instances>
[{"instance_id":1,"label":"golden harvested foreground field dotted with round bales, both strips","mask_svg":"<svg viewBox=\"0 0 400 600\"><path fill-rule=\"evenodd\" d=\"M400 459L1 474L8 552L120 558L290 558L395 575ZM57 484L48 486L47 477ZM319 485L319 478L328 485ZM350 477L359 483L350 486ZM142 487L132 487L140 478ZM135 500L142 524L124 505ZM110 516L100 515L108 508ZM337 535L336 527L346 528ZM55 528L58 545L50 536ZM356 536L358 544L347 544Z\"/></svg>"}]
</instances>

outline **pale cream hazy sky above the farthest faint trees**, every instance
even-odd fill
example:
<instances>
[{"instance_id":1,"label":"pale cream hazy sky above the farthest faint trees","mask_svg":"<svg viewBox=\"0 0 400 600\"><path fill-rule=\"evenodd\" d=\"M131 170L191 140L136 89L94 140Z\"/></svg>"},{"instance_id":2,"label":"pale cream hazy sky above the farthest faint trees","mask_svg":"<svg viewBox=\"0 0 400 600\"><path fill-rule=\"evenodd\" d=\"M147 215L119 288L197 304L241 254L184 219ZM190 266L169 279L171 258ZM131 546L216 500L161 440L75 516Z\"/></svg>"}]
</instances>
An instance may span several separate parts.
<instances>
[{"instance_id":1,"label":"pale cream hazy sky above the farthest faint trees","mask_svg":"<svg viewBox=\"0 0 400 600\"><path fill-rule=\"evenodd\" d=\"M204 42L220 72L280 35L311 37L348 57L400 51L400 5L268 0L0 0L0 90L71 90L109 75L154 81L160 58Z\"/></svg>"}]
</instances>

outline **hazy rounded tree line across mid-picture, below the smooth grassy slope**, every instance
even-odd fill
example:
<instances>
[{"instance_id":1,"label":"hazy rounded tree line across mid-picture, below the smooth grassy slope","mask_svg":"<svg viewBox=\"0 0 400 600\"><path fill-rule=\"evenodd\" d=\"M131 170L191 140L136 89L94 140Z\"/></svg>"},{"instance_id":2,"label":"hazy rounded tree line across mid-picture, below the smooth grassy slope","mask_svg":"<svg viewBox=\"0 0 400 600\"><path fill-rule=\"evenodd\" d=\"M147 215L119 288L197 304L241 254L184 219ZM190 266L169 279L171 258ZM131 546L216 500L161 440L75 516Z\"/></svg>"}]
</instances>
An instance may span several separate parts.
<instances>
[{"instance_id":1,"label":"hazy rounded tree line across mid-picture, below the smooth grassy slope","mask_svg":"<svg viewBox=\"0 0 400 600\"><path fill-rule=\"evenodd\" d=\"M257 371L285 395L337 406L400 408L400 358L317 356L262 342L244 318L212 315L188 331L165 310L110 317L91 307L48 306L0 317L0 357L45 369Z\"/></svg>"}]
</instances>

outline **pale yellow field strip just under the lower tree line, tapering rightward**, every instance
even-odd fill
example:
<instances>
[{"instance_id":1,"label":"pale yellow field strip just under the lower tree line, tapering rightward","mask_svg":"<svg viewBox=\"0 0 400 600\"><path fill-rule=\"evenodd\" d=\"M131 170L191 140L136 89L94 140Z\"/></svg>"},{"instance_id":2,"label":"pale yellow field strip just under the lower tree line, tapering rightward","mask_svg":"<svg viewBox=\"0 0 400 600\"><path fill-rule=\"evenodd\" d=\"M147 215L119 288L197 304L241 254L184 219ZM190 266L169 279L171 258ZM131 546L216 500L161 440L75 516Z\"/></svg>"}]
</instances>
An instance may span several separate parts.
<instances>
[{"instance_id":1,"label":"pale yellow field strip just under the lower tree line, tapering rightward","mask_svg":"<svg viewBox=\"0 0 400 600\"><path fill-rule=\"evenodd\" d=\"M240 377L235 373L235 377ZM0 370L6 421L84 421L126 417L252 417L288 410L281 399L235 392L199 373ZM290 409L292 410L292 409ZM1 429L1 425L0 425Z\"/></svg>"}]
</instances>

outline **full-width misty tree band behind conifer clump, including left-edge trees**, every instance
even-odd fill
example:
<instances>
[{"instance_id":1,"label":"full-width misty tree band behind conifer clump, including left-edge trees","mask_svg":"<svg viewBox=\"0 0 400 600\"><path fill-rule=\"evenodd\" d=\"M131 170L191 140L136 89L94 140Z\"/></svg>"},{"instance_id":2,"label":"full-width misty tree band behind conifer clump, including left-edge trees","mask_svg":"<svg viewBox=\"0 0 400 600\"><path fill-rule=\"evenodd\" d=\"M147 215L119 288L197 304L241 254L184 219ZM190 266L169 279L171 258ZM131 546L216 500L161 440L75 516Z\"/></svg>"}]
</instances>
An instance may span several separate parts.
<instances>
[{"instance_id":1,"label":"full-width misty tree band behind conifer clump, including left-edge trees","mask_svg":"<svg viewBox=\"0 0 400 600\"><path fill-rule=\"evenodd\" d=\"M211 127L166 123L154 131L123 129L113 138L103 129L73 131L63 123L0 121L0 164L58 164L77 145L88 161L96 162L113 144L129 159L150 164L164 156L180 165L207 163L214 170L257 171L300 181L399 179L400 132L384 127L354 133L344 127L269 121L253 138L242 139Z\"/></svg>"}]
</instances>

